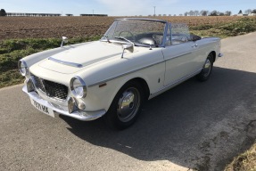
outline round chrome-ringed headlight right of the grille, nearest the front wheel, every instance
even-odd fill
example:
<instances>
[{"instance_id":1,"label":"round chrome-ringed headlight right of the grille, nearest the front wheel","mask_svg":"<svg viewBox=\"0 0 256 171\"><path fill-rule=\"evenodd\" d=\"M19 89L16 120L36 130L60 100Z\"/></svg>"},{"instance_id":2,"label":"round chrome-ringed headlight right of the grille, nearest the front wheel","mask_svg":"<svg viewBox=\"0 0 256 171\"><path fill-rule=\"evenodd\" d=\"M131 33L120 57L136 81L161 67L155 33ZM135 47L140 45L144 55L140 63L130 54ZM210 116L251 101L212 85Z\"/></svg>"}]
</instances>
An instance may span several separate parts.
<instances>
[{"instance_id":1,"label":"round chrome-ringed headlight right of the grille, nearest the front wheel","mask_svg":"<svg viewBox=\"0 0 256 171\"><path fill-rule=\"evenodd\" d=\"M81 77L72 77L70 80L70 89L72 94L78 98L85 98L87 96L87 85Z\"/></svg>"}]
</instances>

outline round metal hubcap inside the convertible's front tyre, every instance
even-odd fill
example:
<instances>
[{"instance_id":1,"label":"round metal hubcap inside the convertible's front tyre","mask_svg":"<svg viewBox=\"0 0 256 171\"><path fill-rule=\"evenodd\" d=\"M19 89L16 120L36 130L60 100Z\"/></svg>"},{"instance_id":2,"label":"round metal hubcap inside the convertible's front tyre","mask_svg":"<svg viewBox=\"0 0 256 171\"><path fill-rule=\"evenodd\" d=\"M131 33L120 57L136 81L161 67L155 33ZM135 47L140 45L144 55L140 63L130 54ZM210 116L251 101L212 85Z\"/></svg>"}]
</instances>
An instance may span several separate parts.
<instances>
[{"instance_id":1,"label":"round metal hubcap inside the convertible's front tyre","mask_svg":"<svg viewBox=\"0 0 256 171\"><path fill-rule=\"evenodd\" d=\"M140 106L140 94L134 87L128 88L120 95L117 113L122 122L128 122L136 116Z\"/></svg>"}]
</instances>

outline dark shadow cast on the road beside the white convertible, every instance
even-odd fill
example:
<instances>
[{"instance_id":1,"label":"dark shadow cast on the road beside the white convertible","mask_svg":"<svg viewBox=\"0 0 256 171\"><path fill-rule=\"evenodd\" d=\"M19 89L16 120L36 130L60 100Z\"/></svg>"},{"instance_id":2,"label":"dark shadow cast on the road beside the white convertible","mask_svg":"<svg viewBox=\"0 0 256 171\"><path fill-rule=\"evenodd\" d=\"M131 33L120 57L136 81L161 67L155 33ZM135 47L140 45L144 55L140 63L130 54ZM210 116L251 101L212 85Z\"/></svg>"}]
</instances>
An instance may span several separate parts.
<instances>
[{"instance_id":1,"label":"dark shadow cast on the road beside the white convertible","mask_svg":"<svg viewBox=\"0 0 256 171\"><path fill-rule=\"evenodd\" d=\"M215 67L208 81L193 77L146 102L136 124L124 131L107 128L102 119L61 118L79 138L136 159L223 170L255 140L246 131L256 119L255 103L256 73Z\"/></svg>"}]
</instances>

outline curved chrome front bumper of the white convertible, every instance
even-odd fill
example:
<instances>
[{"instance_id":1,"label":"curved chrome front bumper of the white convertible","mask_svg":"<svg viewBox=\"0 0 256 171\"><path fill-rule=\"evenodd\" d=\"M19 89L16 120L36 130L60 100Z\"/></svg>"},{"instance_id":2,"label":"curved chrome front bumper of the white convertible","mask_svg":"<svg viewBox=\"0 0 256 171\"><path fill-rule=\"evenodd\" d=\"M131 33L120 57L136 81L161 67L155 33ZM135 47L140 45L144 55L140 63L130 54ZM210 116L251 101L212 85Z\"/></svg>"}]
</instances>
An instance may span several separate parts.
<instances>
[{"instance_id":1,"label":"curved chrome front bumper of the white convertible","mask_svg":"<svg viewBox=\"0 0 256 171\"><path fill-rule=\"evenodd\" d=\"M54 110L54 114L61 114L71 118L77 118L79 120L89 121L89 120L95 120L96 118L100 118L106 113L105 110L97 110L97 111L76 110L70 113L67 107L59 106L57 108L58 105L55 105L52 102L45 101L36 92L28 92L27 85L23 86L22 91L26 94L29 94L30 99L36 102L39 102L40 104L43 104L45 107L49 109Z\"/></svg>"}]
</instances>

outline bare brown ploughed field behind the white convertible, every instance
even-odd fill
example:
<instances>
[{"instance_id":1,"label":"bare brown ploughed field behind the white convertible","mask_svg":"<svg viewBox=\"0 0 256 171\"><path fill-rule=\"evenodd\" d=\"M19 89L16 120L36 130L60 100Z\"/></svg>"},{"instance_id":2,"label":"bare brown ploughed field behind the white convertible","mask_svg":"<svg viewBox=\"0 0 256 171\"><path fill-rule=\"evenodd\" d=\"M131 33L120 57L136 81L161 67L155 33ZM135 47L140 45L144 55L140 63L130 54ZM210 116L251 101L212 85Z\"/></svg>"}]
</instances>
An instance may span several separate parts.
<instances>
[{"instance_id":1,"label":"bare brown ploughed field behind the white convertible","mask_svg":"<svg viewBox=\"0 0 256 171\"><path fill-rule=\"evenodd\" d=\"M101 36L117 17L0 17L0 40L9 38ZM241 17L156 17L190 26L215 25Z\"/></svg>"}]
</instances>

